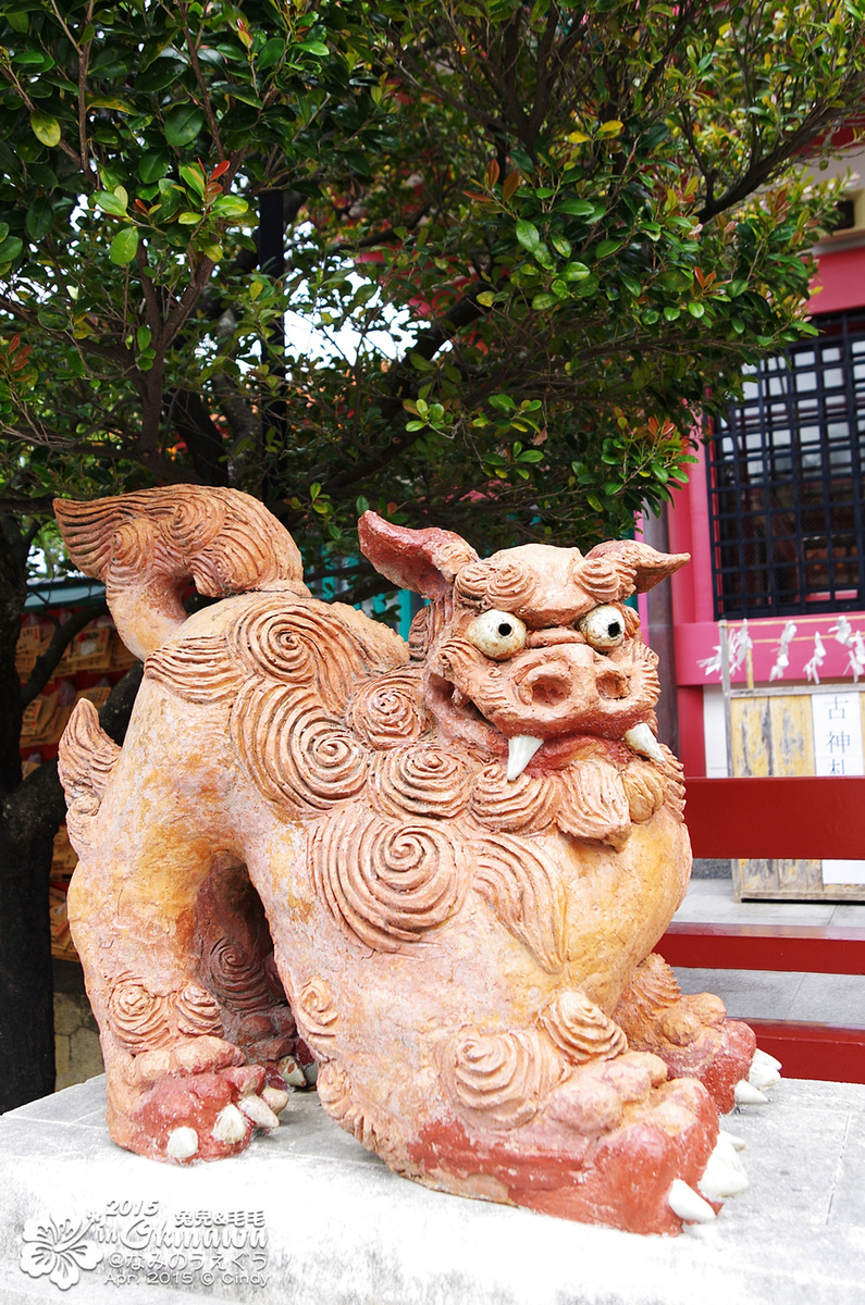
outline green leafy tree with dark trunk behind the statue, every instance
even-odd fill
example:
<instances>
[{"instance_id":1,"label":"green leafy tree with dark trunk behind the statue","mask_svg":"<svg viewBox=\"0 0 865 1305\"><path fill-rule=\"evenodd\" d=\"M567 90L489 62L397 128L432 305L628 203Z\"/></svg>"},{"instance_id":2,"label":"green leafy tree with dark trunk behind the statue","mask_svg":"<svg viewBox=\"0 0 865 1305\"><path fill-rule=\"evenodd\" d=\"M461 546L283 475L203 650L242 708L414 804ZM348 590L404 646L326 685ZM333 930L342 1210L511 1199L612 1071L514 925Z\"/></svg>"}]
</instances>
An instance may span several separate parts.
<instances>
[{"instance_id":1,"label":"green leafy tree with dark trunk behind the statue","mask_svg":"<svg viewBox=\"0 0 865 1305\"><path fill-rule=\"evenodd\" d=\"M861 104L864 25L855 0L0 3L7 1104L51 1086L61 804L50 767L20 782L13 667L51 495L237 485L353 599L383 583L353 560L367 505L481 548L627 530L742 367L813 331L836 193L802 164Z\"/></svg>"}]
</instances>

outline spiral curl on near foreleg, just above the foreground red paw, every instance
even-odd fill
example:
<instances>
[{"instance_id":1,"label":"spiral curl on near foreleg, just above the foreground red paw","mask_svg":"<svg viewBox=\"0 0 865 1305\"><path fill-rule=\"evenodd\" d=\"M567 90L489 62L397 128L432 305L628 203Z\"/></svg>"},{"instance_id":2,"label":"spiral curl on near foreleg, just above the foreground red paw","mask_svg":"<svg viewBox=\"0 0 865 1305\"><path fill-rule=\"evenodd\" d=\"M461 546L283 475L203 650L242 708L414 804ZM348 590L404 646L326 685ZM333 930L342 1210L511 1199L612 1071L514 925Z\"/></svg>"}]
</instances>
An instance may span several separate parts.
<instances>
[{"instance_id":1,"label":"spiral curl on near foreleg, just above the foreground red paw","mask_svg":"<svg viewBox=\"0 0 865 1305\"><path fill-rule=\"evenodd\" d=\"M498 1129L529 1124L562 1071L558 1056L534 1030L463 1030L448 1043L443 1067L459 1105Z\"/></svg>"}]
</instances>

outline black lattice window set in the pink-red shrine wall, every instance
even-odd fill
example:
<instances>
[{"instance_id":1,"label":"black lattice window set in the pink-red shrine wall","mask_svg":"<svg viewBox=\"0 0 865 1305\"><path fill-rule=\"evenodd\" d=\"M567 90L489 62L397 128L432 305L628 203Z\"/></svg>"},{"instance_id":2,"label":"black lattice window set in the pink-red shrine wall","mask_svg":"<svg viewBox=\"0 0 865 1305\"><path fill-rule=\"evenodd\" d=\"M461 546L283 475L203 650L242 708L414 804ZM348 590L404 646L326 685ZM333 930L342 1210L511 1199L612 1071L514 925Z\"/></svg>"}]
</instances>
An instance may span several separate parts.
<instances>
[{"instance_id":1,"label":"black lattice window set in the pink-red shrine wall","mask_svg":"<svg viewBox=\"0 0 865 1305\"><path fill-rule=\"evenodd\" d=\"M815 325L711 433L716 617L865 607L865 309Z\"/></svg>"}]
</instances>

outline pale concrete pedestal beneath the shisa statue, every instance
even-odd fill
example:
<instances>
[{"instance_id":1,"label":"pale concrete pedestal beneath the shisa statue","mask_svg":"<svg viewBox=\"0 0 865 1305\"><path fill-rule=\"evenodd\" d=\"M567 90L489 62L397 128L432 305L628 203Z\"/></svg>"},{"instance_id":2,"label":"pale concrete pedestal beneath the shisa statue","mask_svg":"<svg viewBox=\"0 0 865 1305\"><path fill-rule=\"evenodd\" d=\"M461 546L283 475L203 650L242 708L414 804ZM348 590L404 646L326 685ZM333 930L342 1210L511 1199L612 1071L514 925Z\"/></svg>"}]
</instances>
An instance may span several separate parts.
<instances>
[{"instance_id":1,"label":"pale concrete pedestal beneath the shisa statue","mask_svg":"<svg viewBox=\"0 0 865 1305\"><path fill-rule=\"evenodd\" d=\"M0 1301L861 1305L865 1086L772 1096L726 1122L749 1190L665 1238L427 1191L312 1094L242 1156L155 1164L108 1141L91 1079L0 1118Z\"/></svg>"}]
</instances>

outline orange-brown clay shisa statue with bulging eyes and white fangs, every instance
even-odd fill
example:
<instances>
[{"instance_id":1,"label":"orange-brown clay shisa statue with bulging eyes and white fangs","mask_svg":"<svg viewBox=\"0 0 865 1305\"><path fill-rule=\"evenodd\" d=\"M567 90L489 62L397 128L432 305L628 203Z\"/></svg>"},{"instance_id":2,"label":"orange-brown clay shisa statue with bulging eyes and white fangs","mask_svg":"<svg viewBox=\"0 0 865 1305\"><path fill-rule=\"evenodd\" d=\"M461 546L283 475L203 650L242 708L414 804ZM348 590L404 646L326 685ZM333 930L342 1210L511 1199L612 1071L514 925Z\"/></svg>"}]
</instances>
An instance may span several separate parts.
<instances>
[{"instance_id":1,"label":"orange-brown clay shisa statue with bulging eyes and white fangs","mask_svg":"<svg viewBox=\"0 0 865 1305\"><path fill-rule=\"evenodd\" d=\"M115 1142L233 1155L306 1054L324 1109L431 1188L669 1233L743 1189L719 1111L777 1075L652 953L690 847L625 600L686 555L482 560L366 513L372 565L429 599L406 646L311 598L237 491L56 513L144 659L123 749L86 701L60 749ZM222 600L187 616L191 583Z\"/></svg>"}]
</instances>

